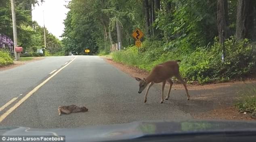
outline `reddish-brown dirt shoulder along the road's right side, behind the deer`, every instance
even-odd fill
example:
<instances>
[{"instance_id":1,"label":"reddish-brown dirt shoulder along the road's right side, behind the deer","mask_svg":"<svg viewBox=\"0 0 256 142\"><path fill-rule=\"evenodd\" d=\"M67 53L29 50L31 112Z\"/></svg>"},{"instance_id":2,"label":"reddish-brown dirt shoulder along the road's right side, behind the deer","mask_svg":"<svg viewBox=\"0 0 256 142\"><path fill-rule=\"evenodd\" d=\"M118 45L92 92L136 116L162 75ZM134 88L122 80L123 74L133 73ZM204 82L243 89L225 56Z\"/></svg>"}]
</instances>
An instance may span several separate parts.
<instances>
[{"instance_id":1,"label":"reddish-brown dirt shoulder along the road's right side, behind the deer","mask_svg":"<svg viewBox=\"0 0 256 142\"><path fill-rule=\"evenodd\" d=\"M143 78L148 74L145 70L114 62L109 57L101 58L131 77ZM175 100L175 103L180 106L181 110L190 113L195 119L254 120L249 114L239 113L238 109L234 107L234 103L238 99L238 92L241 91L245 83L256 83L256 81L232 81L207 85L188 84L192 100L187 103L184 100L178 100L174 95L174 99L171 101ZM182 89L184 88L179 83L172 87L172 90L175 91Z\"/></svg>"}]
</instances>

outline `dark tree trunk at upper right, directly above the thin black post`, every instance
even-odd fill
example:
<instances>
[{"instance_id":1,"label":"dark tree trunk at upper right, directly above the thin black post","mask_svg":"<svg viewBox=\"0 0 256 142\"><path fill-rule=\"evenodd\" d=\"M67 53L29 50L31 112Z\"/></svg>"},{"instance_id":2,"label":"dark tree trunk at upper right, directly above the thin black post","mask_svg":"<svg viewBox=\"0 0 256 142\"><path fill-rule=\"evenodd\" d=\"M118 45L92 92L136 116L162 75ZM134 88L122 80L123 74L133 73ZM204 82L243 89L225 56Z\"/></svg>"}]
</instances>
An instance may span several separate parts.
<instances>
[{"instance_id":1,"label":"dark tree trunk at upper right, directly above the thin black post","mask_svg":"<svg viewBox=\"0 0 256 142\"><path fill-rule=\"evenodd\" d=\"M229 19L227 6L227 0L217 0L217 22L220 44L223 44L224 38L229 36L229 29L227 27ZM222 35L222 32L224 32L224 36Z\"/></svg>"}]
</instances>

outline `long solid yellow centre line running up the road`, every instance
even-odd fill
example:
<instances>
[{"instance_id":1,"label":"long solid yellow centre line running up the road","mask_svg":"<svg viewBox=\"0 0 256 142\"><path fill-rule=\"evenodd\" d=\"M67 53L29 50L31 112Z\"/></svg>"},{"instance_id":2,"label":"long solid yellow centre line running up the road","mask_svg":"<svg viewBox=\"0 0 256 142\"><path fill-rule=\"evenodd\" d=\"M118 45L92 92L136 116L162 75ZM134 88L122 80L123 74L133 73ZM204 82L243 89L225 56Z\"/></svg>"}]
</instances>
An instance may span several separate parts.
<instances>
[{"instance_id":1,"label":"long solid yellow centre line running up the road","mask_svg":"<svg viewBox=\"0 0 256 142\"><path fill-rule=\"evenodd\" d=\"M33 93L35 93L36 91L38 91L38 89L40 87L42 87L46 82L48 82L53 76L55 76L57 73L59 73L61 70L63 70L63 68L65 68L66 66L68 66L71 62L73 62L76 59L73 58L73 60L71 60L68 64L66 64L65 66L63 66L62 68L60 68L59 70L57 70L57 72L55 72L54 74L52 74L50 77L48 77L46 80L44 80L41 84L39 84L38 86L36 86L33 90L31 90L29 93L27 93L22 99L20 99L15 105L13 105L13 107L11 107L10 109L8 109L4 114L2 114L0 116L0 123L10 114L12 113L17 107L19 107L19 105L21 105L21 103L23 103L24 101L26 101Z\"/></svg>"}]
</instances>

